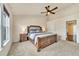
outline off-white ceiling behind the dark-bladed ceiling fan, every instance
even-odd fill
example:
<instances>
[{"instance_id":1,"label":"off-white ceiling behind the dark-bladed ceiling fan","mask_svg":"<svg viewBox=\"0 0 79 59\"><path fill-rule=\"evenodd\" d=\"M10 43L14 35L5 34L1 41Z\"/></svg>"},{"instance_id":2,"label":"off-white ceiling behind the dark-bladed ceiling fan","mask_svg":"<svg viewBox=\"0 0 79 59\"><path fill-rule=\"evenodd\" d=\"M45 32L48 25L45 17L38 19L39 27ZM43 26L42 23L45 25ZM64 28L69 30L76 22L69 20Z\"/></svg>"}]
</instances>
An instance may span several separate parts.
<instances>
[{"instance_id":1,"label":"off-white ceiling behind the dark-bladed ceiling fan","mask_svg":"<svg viewBox=\"0 0 79 59\"><path fill-rule=\"evenodd\" d=\"M58 9L55 12L60 12L64 8L71 6L72 4L58 4L58 3L16 3L16 4L9 4L11 7L11 11L13 15L41 15L41 11L45 11L45 6L50 5L50 8L54 8L58 6Z\"/></svg>"}]
</instances>

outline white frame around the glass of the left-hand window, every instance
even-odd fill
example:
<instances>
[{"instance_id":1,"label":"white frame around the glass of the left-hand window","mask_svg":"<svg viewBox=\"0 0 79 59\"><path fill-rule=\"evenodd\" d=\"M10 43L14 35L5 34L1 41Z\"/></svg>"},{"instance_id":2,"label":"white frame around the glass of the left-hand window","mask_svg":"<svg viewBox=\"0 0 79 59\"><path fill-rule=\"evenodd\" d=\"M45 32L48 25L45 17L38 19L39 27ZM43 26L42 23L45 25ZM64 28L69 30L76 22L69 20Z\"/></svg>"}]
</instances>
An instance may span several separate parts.
<instances>
[{"instance_id":1,"label":"white frame around the glass of the left-hand window","mask_svg":"<svg viewBox=\"0 0 79 59\"><path fill-rule=\"evenodd\" d=\"M0 16L1 16L1 18L0 18L0 51L2 50L2 48L10 41L10 16L9 16L9 13L8 13L8 10L7 10L7 8L5 7L5 5L4 4L1 4L0 5L1 7L0 7ZM5 10L4 10L5 9ZM3 43L3 38L2 38L2 22L3 22L3 14L5 14L6 15L6 17L7 18L5 18L5 22L7 23L6 25L5 25L5 28L6 28L6 30L8 29L9 30L9 33L8 32L6 32L6 36L7 36L7 34L8 34L8 39L6 38L5 39L5 42ZM7 21L8 20L8 21Z\"/></svg>"}]
</instances>

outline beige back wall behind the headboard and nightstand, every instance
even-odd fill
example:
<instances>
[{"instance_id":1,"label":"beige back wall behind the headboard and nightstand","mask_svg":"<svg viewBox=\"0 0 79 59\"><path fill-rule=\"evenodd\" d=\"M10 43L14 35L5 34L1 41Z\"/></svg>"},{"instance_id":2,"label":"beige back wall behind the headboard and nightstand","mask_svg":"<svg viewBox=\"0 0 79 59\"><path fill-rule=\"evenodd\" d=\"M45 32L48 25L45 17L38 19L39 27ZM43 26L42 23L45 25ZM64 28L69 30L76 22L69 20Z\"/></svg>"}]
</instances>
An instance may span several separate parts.
<instances>
[{"instance_id":1,"label":"beige back wall behind the headboard and nightstand","mask_svg":"<svg viewBox=\"0 0 79 59\"><path fill-rule=\"evenodd\" d=\"M13 22L13 42L18 42L20 40L19 34L23 32L23 28L27 28L29 25L46 27L46 17L39 15L14 16Z\"/></svg>"}]
</instances>

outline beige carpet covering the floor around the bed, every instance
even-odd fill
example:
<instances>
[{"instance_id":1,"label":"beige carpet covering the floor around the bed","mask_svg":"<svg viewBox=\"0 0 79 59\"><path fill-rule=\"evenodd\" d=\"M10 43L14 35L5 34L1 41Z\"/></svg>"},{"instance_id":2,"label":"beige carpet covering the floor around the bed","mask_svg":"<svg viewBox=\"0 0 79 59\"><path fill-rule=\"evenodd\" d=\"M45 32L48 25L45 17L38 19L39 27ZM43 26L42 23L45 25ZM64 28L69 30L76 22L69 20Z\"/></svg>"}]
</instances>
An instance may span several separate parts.
<instances>
[{"instance_id":1,"label":"beige carpet covering the floor around the bed","mask_svg":"<svg viewBox=\"0 0 79 59\"><path fill-rule=\"evenodd\" d=\"M58 41L37 52L36 47L30 42L13 43L9 56L79 56L79 45L69 41Z\"/></svg>"}]
</instances>

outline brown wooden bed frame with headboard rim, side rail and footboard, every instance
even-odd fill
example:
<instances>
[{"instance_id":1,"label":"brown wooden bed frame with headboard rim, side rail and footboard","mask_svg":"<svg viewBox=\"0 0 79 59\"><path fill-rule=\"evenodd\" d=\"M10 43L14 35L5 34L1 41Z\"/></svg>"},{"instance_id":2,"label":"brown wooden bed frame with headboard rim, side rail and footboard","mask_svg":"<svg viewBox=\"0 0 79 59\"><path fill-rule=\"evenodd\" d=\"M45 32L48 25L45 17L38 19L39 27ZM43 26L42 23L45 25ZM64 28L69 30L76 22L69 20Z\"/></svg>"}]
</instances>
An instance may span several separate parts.
<instances>
[{"instance_id":1,"label":"brown wooden bed frame with headboard rim, side rail and footboard","mask_svg":"<svg viewBox=\"0 0 79 59\"><path fill-rule=\"evenodd\" d=\"M29 28L30 27L39 27L40 30L42 30L42 28L40 26L35 26L35 25L31 25L31 26L28 26L28 33L29 33ZM28 37L28 39L34 44L34 41ZM54 35L49 35L49 36L46 36L46 37L38 37L38 41L36 42L35 46L37 48L37 51L39 52L41 49L53 44L57 42L57 34L54 34Z\"/></svg>"}]
</instances>

